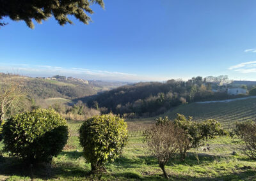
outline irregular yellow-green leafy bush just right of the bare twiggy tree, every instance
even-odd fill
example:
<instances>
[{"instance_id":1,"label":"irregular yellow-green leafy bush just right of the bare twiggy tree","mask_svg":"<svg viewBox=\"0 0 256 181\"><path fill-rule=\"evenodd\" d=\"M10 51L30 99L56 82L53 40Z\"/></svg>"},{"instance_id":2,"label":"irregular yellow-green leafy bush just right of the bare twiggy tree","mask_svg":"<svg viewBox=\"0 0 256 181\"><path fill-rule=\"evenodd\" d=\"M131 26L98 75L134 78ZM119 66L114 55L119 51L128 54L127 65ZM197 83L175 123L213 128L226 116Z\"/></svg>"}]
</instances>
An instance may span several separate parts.
<instances>
[{"instance_id":1,"label":"irregular yellow-green leafy bush just right of the bare twiggy tree","mask_svg":"<svg viewBox=\"0 0 256 181\"><path fill-rule=\"evenodd\" d=\"M157 124L166 124L172 122L168 117L157 119ZM213 139L216 136L227 135L226 131L221 128L217 120L209 119L204 122L192 121L192 117L187 119L182 114L177 114L174 120L177 127L180 127L186 135L186 140L180 143L180 159L184 161L186 154L190 148L198 148L204 145L205 140Z\"/></svg>"}]
</instances>

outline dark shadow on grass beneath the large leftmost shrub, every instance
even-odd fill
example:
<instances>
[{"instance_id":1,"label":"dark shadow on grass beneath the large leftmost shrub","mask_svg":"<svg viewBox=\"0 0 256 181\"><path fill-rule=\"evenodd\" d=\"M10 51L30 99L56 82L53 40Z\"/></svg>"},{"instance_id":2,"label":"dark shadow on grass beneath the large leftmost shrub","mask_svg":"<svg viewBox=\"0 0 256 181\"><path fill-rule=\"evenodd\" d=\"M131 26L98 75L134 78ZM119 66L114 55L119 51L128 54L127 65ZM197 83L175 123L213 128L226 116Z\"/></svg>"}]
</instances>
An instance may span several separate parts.
<instances>
[{"instance_id":1,"label":"dark shadow on grass beneath the large leftmost shrub","mask_svg":"<svg viewBox=\"0 0 256 181\"><path fill-rule=\"evenodd\" d=\"M79 152L64 152L70 158L76 159L80 157ZM76 162L65 161L58 164L24 164L20 159L15 157L2 157L0 160L0 175L7 177L30 177L30 178L64 178L65 180L72 178L90 177L90 168L83 168Z\"/></svg>"}]
</instances>

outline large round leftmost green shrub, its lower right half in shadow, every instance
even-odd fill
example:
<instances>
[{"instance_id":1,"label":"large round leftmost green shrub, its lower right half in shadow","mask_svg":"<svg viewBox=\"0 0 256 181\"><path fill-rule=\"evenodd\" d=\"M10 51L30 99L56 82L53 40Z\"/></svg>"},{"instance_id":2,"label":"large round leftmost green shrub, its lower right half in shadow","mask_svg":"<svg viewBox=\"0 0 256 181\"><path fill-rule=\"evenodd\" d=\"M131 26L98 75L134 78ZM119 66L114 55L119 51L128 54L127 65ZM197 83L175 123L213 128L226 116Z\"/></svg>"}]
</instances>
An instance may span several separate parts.
<instances>
[{"instance_id":1,"label":"large round leftmost green shrub, its lower right half in shadow","mask_svg":"<svg viewBox=\"0 0 256 181\"><path fill-rule=\"evenodd\" d=\"M28 163L49 162L67 143L67 122L54 110L38 109L7 119L4 150Z\"/></svg>"}]
</instances>

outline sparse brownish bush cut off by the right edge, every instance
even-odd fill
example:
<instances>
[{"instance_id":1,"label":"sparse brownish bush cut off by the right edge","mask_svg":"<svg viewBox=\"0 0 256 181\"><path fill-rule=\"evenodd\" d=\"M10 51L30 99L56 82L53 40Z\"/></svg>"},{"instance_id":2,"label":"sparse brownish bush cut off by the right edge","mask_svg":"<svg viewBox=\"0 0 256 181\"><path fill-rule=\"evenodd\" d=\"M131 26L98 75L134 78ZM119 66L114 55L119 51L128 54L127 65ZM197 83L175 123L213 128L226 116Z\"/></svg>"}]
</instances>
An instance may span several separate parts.
<instances>
[{"instance_id":1,"label":"sparse brownish bush cut off by the right edge","mask_svg":"<svg viewBox=\"0 0 256 181\"><path fill-rule=\"evenodd\" d=\"M244 154L256 159L256 122L237 123L235 132L245 142Z\"/></svg>"}]
</instances>

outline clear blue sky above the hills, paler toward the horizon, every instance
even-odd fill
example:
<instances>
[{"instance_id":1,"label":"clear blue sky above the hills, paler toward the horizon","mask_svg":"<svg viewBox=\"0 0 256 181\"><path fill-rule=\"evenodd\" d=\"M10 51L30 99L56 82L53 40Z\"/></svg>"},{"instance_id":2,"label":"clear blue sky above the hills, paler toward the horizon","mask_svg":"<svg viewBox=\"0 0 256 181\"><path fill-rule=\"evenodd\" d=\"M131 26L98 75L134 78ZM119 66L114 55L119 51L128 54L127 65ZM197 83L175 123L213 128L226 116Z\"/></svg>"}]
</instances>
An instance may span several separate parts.
<instances>
[{"instance_id":1,"label":"clear blue sky above the hills, paler toward the horizon","mask_svg":"<svg viewBox=\"0 0 256 181\"><path fill-rule=\"evenodd\" d=\"M256 80L256 1L110 1L93 22L0 29L0 71L148 81L228 75Z\"/></svg>"}]
</instances>

